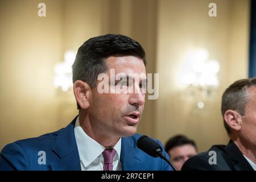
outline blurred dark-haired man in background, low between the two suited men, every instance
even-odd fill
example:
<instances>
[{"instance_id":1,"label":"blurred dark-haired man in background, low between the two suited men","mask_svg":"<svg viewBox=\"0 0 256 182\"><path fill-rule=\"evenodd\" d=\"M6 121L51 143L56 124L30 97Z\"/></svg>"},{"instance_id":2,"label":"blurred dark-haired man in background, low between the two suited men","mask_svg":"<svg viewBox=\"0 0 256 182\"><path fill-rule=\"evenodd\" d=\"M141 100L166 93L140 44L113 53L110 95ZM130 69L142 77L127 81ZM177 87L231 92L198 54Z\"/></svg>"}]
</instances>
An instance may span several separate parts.
<instances>
[{"instance_id":1,"label":"blurred dark-haired man in background, low between the two suited men","mask_svg":"<svg viewBox=\"0 0 256 182\"><path fill-rule=\"evenodd\" d=\"M195 142L184 135L170 138L166 143L165 149L170 156L170 162L178 171L186 160L197 154Z\"/></svg>"}]
</instances>

